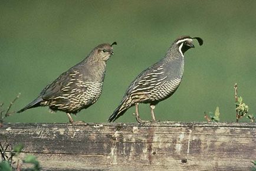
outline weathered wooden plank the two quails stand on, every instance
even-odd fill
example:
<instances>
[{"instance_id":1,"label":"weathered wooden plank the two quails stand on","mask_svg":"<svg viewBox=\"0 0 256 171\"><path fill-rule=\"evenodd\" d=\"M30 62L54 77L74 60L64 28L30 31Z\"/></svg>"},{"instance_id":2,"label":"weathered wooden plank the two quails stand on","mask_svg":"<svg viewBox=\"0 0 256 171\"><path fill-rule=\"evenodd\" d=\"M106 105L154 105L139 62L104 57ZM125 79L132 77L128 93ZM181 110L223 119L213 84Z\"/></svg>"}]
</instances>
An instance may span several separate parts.
<instances>
[{"instance_id":1,"label":"weathered wooden plank the two quails stand on","mask_svg":"<svg viewBox=\"0 0 256 171\"><path fill-rule=\"evenodd\" d=\"M44 170L250 170L256 159L254 123L8 123L5 140Z\"/></svg>"}]
</instances>

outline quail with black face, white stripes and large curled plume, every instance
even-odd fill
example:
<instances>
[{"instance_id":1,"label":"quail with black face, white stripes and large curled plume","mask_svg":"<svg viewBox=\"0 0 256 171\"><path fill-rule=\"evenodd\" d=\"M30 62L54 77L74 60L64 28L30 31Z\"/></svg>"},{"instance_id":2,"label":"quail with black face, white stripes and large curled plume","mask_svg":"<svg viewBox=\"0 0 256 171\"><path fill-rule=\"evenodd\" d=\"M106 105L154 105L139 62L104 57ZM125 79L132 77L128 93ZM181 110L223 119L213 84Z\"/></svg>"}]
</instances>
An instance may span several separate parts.
<instances>
[{"instance_id":1,"label":"quail with black face, white stripes and large curled plume","mask_svg":"<svg viewBox=\"0 0 256 171\"><path fill-rule=\"evenodd\" d=\"M198 40L199 45L203 44L199 37L179 37L170 45L165 57L140 73L127 88L123 100L109 117L109 122L118 119L135 105L136 120L144 123L139 117L139 103L149 103L152 120L156 121L155 106L172 96L179 87L184 69L184 53L194 48L193 39Z\"/></svg>"}]
</instances>

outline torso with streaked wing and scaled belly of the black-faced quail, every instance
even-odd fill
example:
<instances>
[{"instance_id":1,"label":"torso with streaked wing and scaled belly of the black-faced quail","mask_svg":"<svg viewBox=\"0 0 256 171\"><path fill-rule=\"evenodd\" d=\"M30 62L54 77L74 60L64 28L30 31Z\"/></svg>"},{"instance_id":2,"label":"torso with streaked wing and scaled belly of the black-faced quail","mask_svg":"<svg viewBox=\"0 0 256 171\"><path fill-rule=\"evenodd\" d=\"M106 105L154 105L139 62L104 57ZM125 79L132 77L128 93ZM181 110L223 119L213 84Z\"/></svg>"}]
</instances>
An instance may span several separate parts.
<instances>
[{"instance_id":1,"label":"torso with streaked wing and scaled belly of the black-faced quail","mask_svg":"<svg viewBox=\"0 0 256 171\"><path fill-rule=\"evenodd\" d=\"M131 101L147 101L169 97L178 88L182 75L183 60L172 63L159 61L137 76L123 100L131 98Z\"/></svg>"}]
</instances>

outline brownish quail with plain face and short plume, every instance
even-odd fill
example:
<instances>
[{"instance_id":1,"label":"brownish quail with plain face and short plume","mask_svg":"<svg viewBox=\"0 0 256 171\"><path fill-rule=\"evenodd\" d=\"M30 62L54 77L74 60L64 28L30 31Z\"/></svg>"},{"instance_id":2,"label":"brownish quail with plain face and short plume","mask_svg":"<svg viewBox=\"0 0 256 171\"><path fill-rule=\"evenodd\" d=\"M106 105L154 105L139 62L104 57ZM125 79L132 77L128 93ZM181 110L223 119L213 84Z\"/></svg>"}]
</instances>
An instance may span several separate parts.
<instances>
[{"instance_id":1,"label":"brownish quail with plain face and short plume","mask_svg":"<svg viewBox=\"0 0 256 171\"><path fill-rule=\"evenodd\" d=\"M74 123L72 114L88 108L100 97L106 62L114 54L113 44L100 44L83 61L61 74L47 85L35 100L18 111L28 108L48 106L52 111L64 111L70 123Z\"/></svg>"}]
</instances>

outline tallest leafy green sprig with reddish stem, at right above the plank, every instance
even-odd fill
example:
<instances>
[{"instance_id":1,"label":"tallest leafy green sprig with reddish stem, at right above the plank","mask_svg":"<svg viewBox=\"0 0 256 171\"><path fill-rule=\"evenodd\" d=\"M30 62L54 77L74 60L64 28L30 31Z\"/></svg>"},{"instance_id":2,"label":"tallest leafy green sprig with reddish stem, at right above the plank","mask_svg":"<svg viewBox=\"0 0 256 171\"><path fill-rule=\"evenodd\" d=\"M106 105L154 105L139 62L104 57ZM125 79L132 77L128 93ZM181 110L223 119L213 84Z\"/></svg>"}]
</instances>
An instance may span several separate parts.
<instances>
[{"instance_id":1,"label":"tallest leafy green sprig with reddish stem, at right above the plank","mask_svg":"<svg viewBox=\"0 0 256 171\"><path fill-rule=\"evenodd\" d=\"M236 114L237 122L246 114L247 114L247 118L250 119L252 122L254 122L255 121L254 114L248 114L249 106L245 104L242 101L243 100L242 97L238 96L237 94L237 89L238 89L237 83L235 83L234 88L235 88L235 110L237 111L237 114Z\"/></svg>"}]
</instances>

